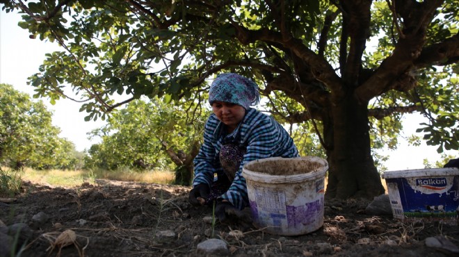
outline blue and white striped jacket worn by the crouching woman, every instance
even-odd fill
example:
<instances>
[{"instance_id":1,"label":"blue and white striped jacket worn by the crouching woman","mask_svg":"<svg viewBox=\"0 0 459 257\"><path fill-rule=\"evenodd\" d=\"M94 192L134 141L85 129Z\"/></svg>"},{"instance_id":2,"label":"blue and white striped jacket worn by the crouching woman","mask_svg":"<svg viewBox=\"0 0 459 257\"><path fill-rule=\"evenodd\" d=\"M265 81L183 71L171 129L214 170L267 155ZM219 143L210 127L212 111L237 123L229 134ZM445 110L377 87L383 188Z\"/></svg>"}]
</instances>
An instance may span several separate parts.
<instances>
[{"instance_id":1,"label":"blue and white striped jacket worn by the crouching woman","mask_svg":"<svg viewBox=\"0 0 459 257\"><path fill-rule=\"evenodd\" d=\"M248 206L247 185L242 176L245 163L268 157L298 157L289 133L273 117L249 108L242 122L229 135L226 135L225 124L212 114L204 127L204 144L194 159L195 178L193 185L206 183L211 187L214 175L225 176L220 167L218 155L224 142L235 142L247 147L247 152L236 172L230 188L219 199L230 201L233 206L243 209Z\"/></svg>"}]
</instances>

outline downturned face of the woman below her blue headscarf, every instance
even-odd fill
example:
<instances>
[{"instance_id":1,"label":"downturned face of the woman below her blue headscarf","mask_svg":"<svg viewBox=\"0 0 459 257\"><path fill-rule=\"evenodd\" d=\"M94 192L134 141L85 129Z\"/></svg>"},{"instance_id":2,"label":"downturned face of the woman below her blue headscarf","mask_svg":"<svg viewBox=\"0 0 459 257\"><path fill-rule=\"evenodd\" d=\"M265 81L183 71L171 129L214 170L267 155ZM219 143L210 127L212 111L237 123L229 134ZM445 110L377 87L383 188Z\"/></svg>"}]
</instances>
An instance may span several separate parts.
<instances>
[{"instance_id":1,"label":"downturned face of the woman below her blue headscarf","mask_svg":"<svg viewBox=\"0 0 459 257\"><path fill-rule=\"evenodd\" d=\"M212 110L220 122L228 126L228 132L231 133L242 121L245 115L245 109L236 103L227 103L225 101L214 101Z\"/></svg>"}]
</instances>

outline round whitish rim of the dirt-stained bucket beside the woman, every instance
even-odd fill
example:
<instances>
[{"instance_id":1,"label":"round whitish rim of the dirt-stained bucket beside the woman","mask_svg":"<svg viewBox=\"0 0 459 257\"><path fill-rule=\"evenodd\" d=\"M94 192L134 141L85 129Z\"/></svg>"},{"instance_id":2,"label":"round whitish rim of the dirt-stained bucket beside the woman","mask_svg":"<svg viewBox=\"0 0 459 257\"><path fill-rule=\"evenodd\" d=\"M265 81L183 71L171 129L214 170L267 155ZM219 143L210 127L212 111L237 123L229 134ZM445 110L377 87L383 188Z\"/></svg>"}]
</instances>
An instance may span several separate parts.
<instances>
[{"instance_id":1,"label":"round whitish rim of the dirt-stained bucket beside the woman","mask_svg":"<svg viewBox=\"0 0 459 257\"><path fill-rule=\"evenodd\" d=\"M318 163L323 164L323 167L320 170L314 170L312 172L307 172L303 174L292 174L292 175L267 175L261 172L253 172L248 169L248 165L253 165L255 163L265 163L275 160L312 160ZM255 182L266 183L266 179L269 178L269 183L298 183L300 181L305 181L307 179L318 179L320 177L325 178L325 172L328 170L328 162L318 156L300 156L293 158L283 158L283 157L269 157L258 160L252 160L249 163L243 165L242 175L245 179Z\"/></svg>"}]
</instances>

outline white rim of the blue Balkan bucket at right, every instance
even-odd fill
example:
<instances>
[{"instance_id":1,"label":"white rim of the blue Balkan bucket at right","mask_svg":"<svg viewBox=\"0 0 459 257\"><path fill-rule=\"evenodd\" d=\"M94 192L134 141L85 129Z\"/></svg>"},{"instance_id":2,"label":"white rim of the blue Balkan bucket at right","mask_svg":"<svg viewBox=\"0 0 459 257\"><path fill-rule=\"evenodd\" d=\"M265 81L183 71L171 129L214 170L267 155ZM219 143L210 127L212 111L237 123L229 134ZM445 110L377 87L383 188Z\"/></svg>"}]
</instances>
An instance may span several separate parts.
<instances>
[{"instance_id":1,"label":"white rim of the blue Balkan bucket at right","mask_svg":"<svg viewBox=\"0 0 459 257\"><path fill-rule=\"evenodd\" d=\"M458 168L401 169L383 173L383 179L398 179L426 176L457 176Z\"/></svg>"}]
</instances>

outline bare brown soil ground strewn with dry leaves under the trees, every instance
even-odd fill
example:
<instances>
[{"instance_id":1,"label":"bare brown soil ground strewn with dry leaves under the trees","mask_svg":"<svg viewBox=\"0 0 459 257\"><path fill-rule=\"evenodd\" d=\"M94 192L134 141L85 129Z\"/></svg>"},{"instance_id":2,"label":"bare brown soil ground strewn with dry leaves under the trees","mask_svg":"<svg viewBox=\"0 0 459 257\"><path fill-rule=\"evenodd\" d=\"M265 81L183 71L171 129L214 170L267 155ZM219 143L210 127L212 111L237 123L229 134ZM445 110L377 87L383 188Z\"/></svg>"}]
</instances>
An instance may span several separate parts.
<instances>
[{"instance_id":1,"label":"bare brown soil ground strewn with dry leaves under the trees","mask_svg":"<svg viewBox=\"0 0 459 257\"><path fill-rule=\"evenodd\" d=\"M197 245L212 237L212 225L202 217L211 217L212 210L188 204L190 189L102 180L72 189L26 183L16 201L0 203L0 219L7 226L22 222L31 228L22 256L79 256L79 251L97 257L200 256ZM366 215L367 204L325 201L323 227L307 235L270 235L255 228L241 233L217 222L214 238L227 242L230 256L451 256L426 247L424 240L444 235L459 244L457 224L402 223ZM34 222L40 212L49 218ZM67 229L76 233L78 249L51 249Z\"/></svg>"}]
</instances>

